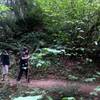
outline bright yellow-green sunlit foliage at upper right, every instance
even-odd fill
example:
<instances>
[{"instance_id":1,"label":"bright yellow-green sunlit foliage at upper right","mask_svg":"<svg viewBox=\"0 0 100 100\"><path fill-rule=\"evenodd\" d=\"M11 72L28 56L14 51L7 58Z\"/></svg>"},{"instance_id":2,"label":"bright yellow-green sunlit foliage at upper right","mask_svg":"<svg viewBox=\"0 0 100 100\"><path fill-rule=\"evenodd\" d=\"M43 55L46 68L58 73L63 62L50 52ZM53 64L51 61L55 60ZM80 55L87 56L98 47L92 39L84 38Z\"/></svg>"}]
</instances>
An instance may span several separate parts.
<instances>
[{"instance_id":1,"label":"bright yellow-green sunlit foliage at upper right","mask_svg":"<svg viewBox=\"0 0 100 100\"><path fill-rule=\"evenodd\" d=\"M89 28L87 21L93 18L92 15L100 6L95 1L90 3L87 0L36 1L43 11L44 25L50 31L65 29L67 32L84 32Z\"/></svg>"}]
</instances>

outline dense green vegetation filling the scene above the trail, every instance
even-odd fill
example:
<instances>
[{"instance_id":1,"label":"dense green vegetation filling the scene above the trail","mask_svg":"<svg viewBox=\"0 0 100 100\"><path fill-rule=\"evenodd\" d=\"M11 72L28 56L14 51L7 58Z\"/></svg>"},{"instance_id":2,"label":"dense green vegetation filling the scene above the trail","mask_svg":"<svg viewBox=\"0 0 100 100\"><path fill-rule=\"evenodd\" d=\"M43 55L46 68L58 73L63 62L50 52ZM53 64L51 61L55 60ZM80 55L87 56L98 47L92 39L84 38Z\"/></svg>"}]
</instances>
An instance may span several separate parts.
<instances>
[{"instance_id":1,"label":"dense green vegetation filling the scene above the trail","mask_svg":"<svg viewBox=\"0 0 100 100\"><path fill-rule=\"evenodd\" d=\"M100 0L0 0L0 51L24 46L42 77L100 81Z\"/></svg>"}]
</instances>

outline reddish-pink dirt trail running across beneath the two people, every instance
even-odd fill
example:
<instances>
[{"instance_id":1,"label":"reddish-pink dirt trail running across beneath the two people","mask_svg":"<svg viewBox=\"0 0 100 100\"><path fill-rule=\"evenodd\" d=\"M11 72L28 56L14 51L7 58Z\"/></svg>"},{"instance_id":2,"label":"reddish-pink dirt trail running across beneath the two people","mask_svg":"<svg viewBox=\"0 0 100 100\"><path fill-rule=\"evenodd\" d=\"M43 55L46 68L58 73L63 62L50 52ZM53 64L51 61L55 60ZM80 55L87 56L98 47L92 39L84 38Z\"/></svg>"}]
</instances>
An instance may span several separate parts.
<instances>
[{"instance_id":1,"label":"reddish-pink dirt trail running across beneath the two people","mask_svg":"<svg viewBox=\"0 0 100 100\"><path fill-rule=\"evenodd\" d=\"M2 82L0 81L0 83ZM14 79L10 79L9 83L11 86L17 85L17 82ZM92 92L96 88L96 86L100 86L100 83L86 84L86 83L55 80L55 79L31 80L30 83L27 83L25 82L25 80L22 80L19 84L23 86L28 86L29 88L42 88L42 89L49 89L54 87L64 87L67 89L71 86L74 86L78 87L78 91L85 95L89 95L89 93Z\"/></svg>"}]
</instances>

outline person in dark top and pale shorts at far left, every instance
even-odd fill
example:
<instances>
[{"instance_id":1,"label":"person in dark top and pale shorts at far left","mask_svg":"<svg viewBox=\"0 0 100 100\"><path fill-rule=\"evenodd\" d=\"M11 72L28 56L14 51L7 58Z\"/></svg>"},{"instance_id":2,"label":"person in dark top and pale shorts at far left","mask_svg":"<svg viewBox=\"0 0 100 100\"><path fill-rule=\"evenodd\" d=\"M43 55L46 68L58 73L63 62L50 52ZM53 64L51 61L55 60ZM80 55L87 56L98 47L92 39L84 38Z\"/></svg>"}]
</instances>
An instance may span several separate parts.
<instances>
[{"instance_id":1,"label":"person in dark top and pale shorts at far left","mask_svg":"<svg viewBox=\"0 0 100 100\"><path fill-rule=\"evenodd\" d=\"M2 81L8 81L8 69L10 65L9 54L7 50L3 50L1 54L1 64L2 64Z\"/></svg>"}]
</instances>

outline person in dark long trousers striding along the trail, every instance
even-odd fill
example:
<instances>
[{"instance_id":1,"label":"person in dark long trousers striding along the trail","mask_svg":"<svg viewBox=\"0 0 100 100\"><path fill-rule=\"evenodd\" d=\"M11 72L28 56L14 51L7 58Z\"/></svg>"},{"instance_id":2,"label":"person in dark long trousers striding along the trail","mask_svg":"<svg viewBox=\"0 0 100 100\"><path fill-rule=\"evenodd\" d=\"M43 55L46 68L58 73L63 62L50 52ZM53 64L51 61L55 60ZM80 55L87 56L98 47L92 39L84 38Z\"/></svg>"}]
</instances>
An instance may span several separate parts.
<instances>
[{"instance_id":1,"label":"person in dark long trousers striding along the trail","mask_svg":"<svg viewBox=\"0 0 100 100\"><path fill-rule=\"evenodd\" d=\"M20 71L17 78L17 81L20 81L23 73L25 73L26 81L28 81L28 59L29 59L29 50L24 47L20 54Z\"/></svg>"}]
</instances>

